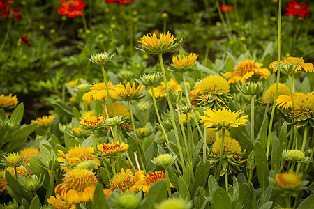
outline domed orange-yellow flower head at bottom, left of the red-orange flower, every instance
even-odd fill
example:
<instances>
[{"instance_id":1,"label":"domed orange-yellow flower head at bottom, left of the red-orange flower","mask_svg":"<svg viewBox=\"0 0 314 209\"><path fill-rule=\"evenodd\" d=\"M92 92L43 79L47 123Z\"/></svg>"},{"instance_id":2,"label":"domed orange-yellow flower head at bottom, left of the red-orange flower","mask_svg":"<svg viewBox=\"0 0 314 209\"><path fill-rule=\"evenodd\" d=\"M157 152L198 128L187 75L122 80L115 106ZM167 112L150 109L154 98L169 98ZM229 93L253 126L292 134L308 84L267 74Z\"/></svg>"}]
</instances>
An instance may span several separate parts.
<instances>
[{"instance_id":1,"label":"domed orange-yellow flower head at bottom, left of the red-orange flower","mask_svg":"<svg viewBox=\"0 0 314 209\"><path fill-rule=\"evenodd\" d=\"M137 171L133 173L130 169L121 169L121 173L117 173L110 179L110 189L104 189L107 197L110 196L114 190L119 189L121 192L126 192L133 187L133 185L140 179L144 171Z\"/></svg>"}]
</instances>

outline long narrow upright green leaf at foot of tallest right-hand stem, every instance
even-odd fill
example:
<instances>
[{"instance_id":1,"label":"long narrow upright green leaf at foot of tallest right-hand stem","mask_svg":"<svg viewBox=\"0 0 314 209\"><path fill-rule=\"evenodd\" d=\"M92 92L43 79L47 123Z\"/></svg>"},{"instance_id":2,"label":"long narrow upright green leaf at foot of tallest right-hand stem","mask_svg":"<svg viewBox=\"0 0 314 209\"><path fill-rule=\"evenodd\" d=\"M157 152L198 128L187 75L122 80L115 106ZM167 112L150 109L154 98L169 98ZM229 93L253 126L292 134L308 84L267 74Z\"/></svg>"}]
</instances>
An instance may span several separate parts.
<instances>
[{"instance_id":1,"label":"long narrow upright green leaf at foot of tallest right-hand stem","mask_svg":"<svg viewBox=\"0 0 314 209\"><path fill-rule=\"evenodd\" d=\"M256 170L258 183L260 183L260 187L262 187L263 191L265 191L268 187L268 166L267 159L264 147L260 144L260 141L256 141L255 143L255 160L256 160Z\"/></svg>"}]
</instances>

